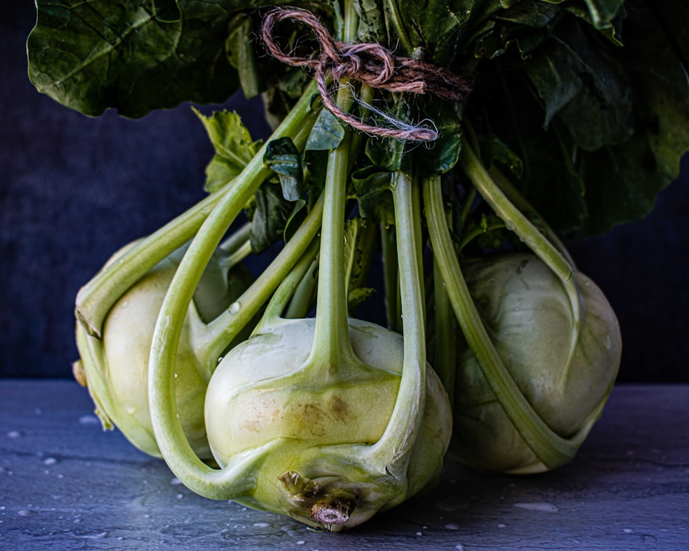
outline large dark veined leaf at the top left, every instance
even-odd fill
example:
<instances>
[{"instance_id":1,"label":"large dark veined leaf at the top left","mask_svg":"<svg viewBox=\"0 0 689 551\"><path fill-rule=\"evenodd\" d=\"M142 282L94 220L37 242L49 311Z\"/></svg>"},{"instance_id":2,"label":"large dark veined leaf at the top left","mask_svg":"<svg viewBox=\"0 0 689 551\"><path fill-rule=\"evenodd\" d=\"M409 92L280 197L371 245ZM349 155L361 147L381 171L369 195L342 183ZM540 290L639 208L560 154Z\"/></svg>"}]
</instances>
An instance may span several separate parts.
<instances>
[{"instance_id":1,"label":"large dark veined leaf at the top left","mask_svg":"<svg viewBox=\"0 0 689 551\"><path fill-rule=\"evenodd\" d=\"M246 6L245 6L246 4ZM232 11L251 3L37 0L28 38L39 91L89 116L141 117L182 101L220 103L237 87L223 44Z\"/></svg>"}]
</instances>

